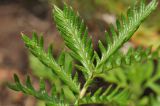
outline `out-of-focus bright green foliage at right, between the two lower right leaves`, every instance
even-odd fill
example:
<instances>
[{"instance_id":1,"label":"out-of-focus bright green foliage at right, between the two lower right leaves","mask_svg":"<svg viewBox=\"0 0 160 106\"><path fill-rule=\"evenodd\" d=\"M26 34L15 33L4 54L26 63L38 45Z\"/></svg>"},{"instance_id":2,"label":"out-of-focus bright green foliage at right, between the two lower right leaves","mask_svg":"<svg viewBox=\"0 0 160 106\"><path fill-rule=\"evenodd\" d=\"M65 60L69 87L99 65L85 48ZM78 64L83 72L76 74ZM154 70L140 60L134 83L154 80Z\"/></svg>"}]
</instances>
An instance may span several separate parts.
<instances>
[{"instance_id":1,"label":"out-of-focus bright green foliage at right, between the two lower right leaves","mask_svg":"<svg viewBox=\"0 0 160 106\"><path fill-rule=\"evenodd\" d=\"M153 54L157 54L159 50L151 53L146 59L138 56L144 61L140 62L132 62L130 65L121 64L118 68L112 68L112 71L106 71L104 74L99 74L99 77L103 78L105 81L117 84L121 87L128 87L132 92L132 95L138 93L143 94L143 90L146 88L151 89L156 92L156 94L160 94L160 86L158 84L158 80L160 79L160 57L153 57ZM158 64L158 67L155 67L154 61ZM135 90L134 87L137 89ZM142 92L139 92L141 90ZM135 93L136 92L136 93ZM139 96L140 96L139 95Z\"/></svg>"}]
</instances>

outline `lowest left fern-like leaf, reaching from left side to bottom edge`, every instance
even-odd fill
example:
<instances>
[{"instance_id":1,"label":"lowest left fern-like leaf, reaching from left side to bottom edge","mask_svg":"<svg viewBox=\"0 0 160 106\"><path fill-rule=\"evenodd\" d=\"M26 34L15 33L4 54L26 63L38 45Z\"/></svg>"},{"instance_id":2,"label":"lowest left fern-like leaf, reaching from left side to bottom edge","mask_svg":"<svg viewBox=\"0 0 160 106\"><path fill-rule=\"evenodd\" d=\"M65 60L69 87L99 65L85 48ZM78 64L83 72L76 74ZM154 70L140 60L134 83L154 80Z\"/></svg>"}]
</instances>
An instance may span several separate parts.
<instances>
[{"instance_id":1,"label":"lowest left fern-like leaf, reaching from left side to bottom edge","mask_svg":"<svg viewBox=\"0 0 160 106\"><path fill-rule=\"evenodd\" d=\"M24 94L32 95L35 98L44 101L46 106L69 106L69 103L64 101L64 94L61 94L61 97L58 96L55 86L52 87L50 95L47 93L43 79L39 82L39 90L36 90L33 87L29 76L26 79L25 85L21 84L16 74L14 75L14 80L15 84L8 84L8 87L12 90L21 91Z\"/></svg>"}]
</instances>

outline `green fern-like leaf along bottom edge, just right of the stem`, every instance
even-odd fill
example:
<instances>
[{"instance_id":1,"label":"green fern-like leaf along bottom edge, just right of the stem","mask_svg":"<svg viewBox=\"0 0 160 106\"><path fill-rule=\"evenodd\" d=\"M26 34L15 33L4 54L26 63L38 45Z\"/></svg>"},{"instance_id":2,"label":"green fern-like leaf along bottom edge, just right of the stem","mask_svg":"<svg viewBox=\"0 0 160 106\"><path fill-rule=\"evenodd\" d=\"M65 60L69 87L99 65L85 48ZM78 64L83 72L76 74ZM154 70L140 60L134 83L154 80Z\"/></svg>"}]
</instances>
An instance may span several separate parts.
<instances>
[{"instance_id":1,"label":"green fern-like leaf along bottom edge, just right of the stem","mask_svg":"<svg viewBox=\"0 0 160 106\"><path fill-rule=\"evenodd\" d=\"M102 88L99 88L93 95L88 93L82 100L80 104L107 104L107 105L126 105L129 97L128 90L122 90L120 92L119 88L108 87L102 92Z\"/></svg>"}]
</instances>

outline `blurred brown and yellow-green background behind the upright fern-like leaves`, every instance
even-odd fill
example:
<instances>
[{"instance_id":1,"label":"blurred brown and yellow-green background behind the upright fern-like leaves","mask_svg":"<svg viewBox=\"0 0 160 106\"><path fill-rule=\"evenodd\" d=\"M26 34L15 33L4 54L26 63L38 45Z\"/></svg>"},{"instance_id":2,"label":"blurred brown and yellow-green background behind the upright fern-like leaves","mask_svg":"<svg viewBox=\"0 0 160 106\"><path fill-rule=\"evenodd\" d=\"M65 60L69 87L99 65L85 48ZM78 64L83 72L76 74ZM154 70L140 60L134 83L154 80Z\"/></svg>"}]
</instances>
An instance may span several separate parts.
<instances>
[{"instance_id":1,"label":"blurred brown and yellow-green background behind the upright fern-like leaves","mask_svg":"<svg viewBox=\"0 0 160 106\"><path fill-rule=\"evenodd\" d=\"M95 49L108 26L115 24L116 18L136 1L139 0L52 0L60 8L66 2L79 11L89 27ZM0 106L43 106L41 101L9 90L6 83L11 82L14 73L18 73L22 80L29 74L37 86L38 70L32 68L33 58L24 47L20 33L31 36L35 31L44 34L45 47L52 43L55 57L64 48L51 12L47 0L0 0ZM160 45L160 4L127 45L144 48Z\"/></svg>"}]
</instances>

